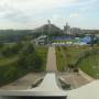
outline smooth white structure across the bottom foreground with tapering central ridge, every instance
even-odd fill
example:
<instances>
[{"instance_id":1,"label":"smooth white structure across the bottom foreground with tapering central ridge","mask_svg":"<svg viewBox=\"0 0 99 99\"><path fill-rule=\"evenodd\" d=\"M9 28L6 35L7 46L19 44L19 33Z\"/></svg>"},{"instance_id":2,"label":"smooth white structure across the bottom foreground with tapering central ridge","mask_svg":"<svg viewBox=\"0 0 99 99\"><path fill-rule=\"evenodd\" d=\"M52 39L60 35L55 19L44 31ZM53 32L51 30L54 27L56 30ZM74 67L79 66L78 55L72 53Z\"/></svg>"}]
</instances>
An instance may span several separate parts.
<instances>
[{"instance_id":1,"label":"smooth white structure across the bottom foreground with tapering central ridge","mask_svg":"<svg viewBox=\"0 0 99 99\"><path fill-rule=\"evenodd\" d=\"M0 90L0 99L99 99L99 80L73 90L63 90L58 77L48 73L41 85L26 90Z\"/></svg>"}]
</instances>

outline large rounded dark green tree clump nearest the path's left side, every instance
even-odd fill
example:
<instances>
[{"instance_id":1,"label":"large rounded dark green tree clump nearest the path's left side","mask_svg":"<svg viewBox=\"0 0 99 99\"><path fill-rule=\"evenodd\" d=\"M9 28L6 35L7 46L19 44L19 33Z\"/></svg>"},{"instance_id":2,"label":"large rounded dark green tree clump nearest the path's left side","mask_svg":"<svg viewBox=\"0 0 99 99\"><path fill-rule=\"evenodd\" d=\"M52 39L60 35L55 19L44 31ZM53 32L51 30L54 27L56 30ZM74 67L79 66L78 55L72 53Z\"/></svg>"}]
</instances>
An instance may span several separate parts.
<instances>
[{"instance_id":1,"label":"large rounded dark green tree clump nearest the path's left side","mask_svg":"<svg viewBox=\"0 0 99 99\"><path fill-rule=\"evenodd\" d=\"M29 54L28 56L22 55L19 59L19 66L29 70L37 70L42 66L42 58L36 53Z\"/></svg>"}]
</instances>

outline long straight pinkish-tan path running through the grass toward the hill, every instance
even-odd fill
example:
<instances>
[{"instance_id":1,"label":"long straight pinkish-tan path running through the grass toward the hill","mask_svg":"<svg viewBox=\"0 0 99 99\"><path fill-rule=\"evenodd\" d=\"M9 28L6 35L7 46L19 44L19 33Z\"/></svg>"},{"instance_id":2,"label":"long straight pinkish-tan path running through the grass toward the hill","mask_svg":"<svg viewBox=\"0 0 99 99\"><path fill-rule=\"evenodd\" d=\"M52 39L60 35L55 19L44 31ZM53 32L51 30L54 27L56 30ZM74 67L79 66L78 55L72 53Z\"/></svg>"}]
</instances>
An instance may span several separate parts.
<instances>
[{"instance_id":1,"label":"long straight pinkish-tan path running through the grass toward the hill","mask_svg":"<svg viewBox=\"0 0 99 99\"><path fill-rule=\"evenodd\" d=\"M51 46L47 54L46 72L57 72L55 47Z\"/></svg>"}]
</instances>

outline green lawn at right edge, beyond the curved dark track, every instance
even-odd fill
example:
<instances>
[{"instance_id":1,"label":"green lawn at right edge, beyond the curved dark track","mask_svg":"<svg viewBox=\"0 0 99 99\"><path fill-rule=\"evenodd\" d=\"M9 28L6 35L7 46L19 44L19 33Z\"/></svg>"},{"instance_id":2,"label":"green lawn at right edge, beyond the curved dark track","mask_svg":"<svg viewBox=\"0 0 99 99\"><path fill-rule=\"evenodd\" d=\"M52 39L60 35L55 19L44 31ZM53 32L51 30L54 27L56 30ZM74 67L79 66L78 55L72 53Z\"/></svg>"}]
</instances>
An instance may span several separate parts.
<instances>
[{"instance_id":1,"label":"green lawn at right edge, beyond the curved dark track","mask_svg":"<svg viewBox=\"0 0 99 99\"><path fill-rule=\"evenodd\" d=\"M94 78L99 78L99 53L86 57L78 66Z\"/></svg>"}]
</instances>

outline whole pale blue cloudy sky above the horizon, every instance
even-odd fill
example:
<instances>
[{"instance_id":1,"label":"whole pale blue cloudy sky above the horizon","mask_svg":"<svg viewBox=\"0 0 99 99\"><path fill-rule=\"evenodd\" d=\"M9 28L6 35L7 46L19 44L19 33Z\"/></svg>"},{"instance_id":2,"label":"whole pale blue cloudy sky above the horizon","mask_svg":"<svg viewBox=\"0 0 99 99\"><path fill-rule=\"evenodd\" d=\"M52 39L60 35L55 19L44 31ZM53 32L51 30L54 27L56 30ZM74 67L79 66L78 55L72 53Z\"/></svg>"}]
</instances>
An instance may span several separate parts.
<instances>
[{"instance_id":1,"label":"whole pale blue cloudy sky above the horizon","mask_svg":"<svg viewBox=\"0 0 99 99\"><path fill-rule=\"evenodd\" d=\"M61 29L99 30L99 0L0 0L0 29L35 29L47 20Z\"/></svg>"}]
</instances>

